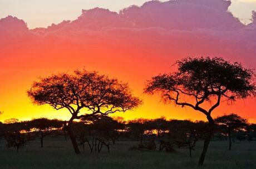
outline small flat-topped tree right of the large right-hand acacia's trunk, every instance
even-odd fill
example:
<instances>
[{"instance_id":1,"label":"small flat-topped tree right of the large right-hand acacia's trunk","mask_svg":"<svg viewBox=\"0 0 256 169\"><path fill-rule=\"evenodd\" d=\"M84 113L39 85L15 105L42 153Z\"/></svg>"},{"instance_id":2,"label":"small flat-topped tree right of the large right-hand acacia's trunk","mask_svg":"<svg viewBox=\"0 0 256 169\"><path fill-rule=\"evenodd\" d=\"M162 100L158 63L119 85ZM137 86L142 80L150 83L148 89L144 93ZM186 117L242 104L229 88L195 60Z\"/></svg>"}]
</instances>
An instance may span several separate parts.
<instances>
[{"instance_id":1,"label":"small flat-topped tree right of the large right-hand acacia's trunk","mask_svg":"<svg viewBox=\"0 0 256 169\"><path fill-rule=\"evenodd\" d=\"M237 114L219 116L215 119L215 122L218 125L223 126L225 127L225 129L227 129L229 137L229 150L231 150L232 145L232 132L238 130L245 130L246 127L248 126L247 119L244 119L243 117L240 117Z\"/></svg>"}]
</instances>

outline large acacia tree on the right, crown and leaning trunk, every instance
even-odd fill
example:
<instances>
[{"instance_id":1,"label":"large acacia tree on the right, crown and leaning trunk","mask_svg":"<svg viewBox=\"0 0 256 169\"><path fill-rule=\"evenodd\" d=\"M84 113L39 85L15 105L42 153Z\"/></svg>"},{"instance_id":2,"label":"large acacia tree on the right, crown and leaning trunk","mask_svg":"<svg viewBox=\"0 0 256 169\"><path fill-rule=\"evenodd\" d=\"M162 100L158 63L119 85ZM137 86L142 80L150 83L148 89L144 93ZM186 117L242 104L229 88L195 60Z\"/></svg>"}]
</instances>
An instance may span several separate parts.
<instances>
[{"instance_id":1,"label":"large acacia tree on the right, crown and leaning trunk","mask_svg":"<svg viewBox=\"0 0 256 169\"><path fill-rule=\"evenodd\" d=\"M211 112L223 99L235 101L255 96L253 70L243 68L237 62L230 63L216 57L185 58L176 64L178 71L154 76L147 81L144 92L161 93L165 103L188 106L206 116L209 122L208 136L205 137L199 158L199 165L203 165L214 132L215 122Z\"/></svg>"}]
</instances>

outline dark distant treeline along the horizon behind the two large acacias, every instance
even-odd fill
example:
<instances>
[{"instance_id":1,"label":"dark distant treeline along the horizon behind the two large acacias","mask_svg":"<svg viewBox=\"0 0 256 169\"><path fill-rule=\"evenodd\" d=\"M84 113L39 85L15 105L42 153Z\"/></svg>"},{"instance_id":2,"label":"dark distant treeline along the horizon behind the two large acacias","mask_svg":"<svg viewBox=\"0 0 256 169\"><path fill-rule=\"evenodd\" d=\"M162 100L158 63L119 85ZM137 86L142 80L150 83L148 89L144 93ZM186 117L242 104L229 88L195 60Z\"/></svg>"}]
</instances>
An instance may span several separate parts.
<instances>
[{"instance_id":1,"label":"dark distant treeline along the horizon behind the two large acacias","mask_svg":"<svg viewBox=\"0 0 256 169\"><path fill-rule=\"evenodd\" d=\"M232 142L255 141L256 124L236 115L224 115L215 119L215 132L212 140ZM66 121L57 119L32 119L30 121L6 120L0 124L0 136L8 147L19 148L35 139L47 135L63 136L67 140ZM91 152L100 152L102 147L110 151L110 145L118 140L138 141L130 150L175 151L175 148L187 147L190 156L196 142L207 136L208 122L190 120L136 119L125 121L122 117L95 116L74 122L72 130L82 150L87 145ZM157 144L158 143L158 144ZM159 146L158 146L159 145Z\"/></svg>"}]
</instances>

